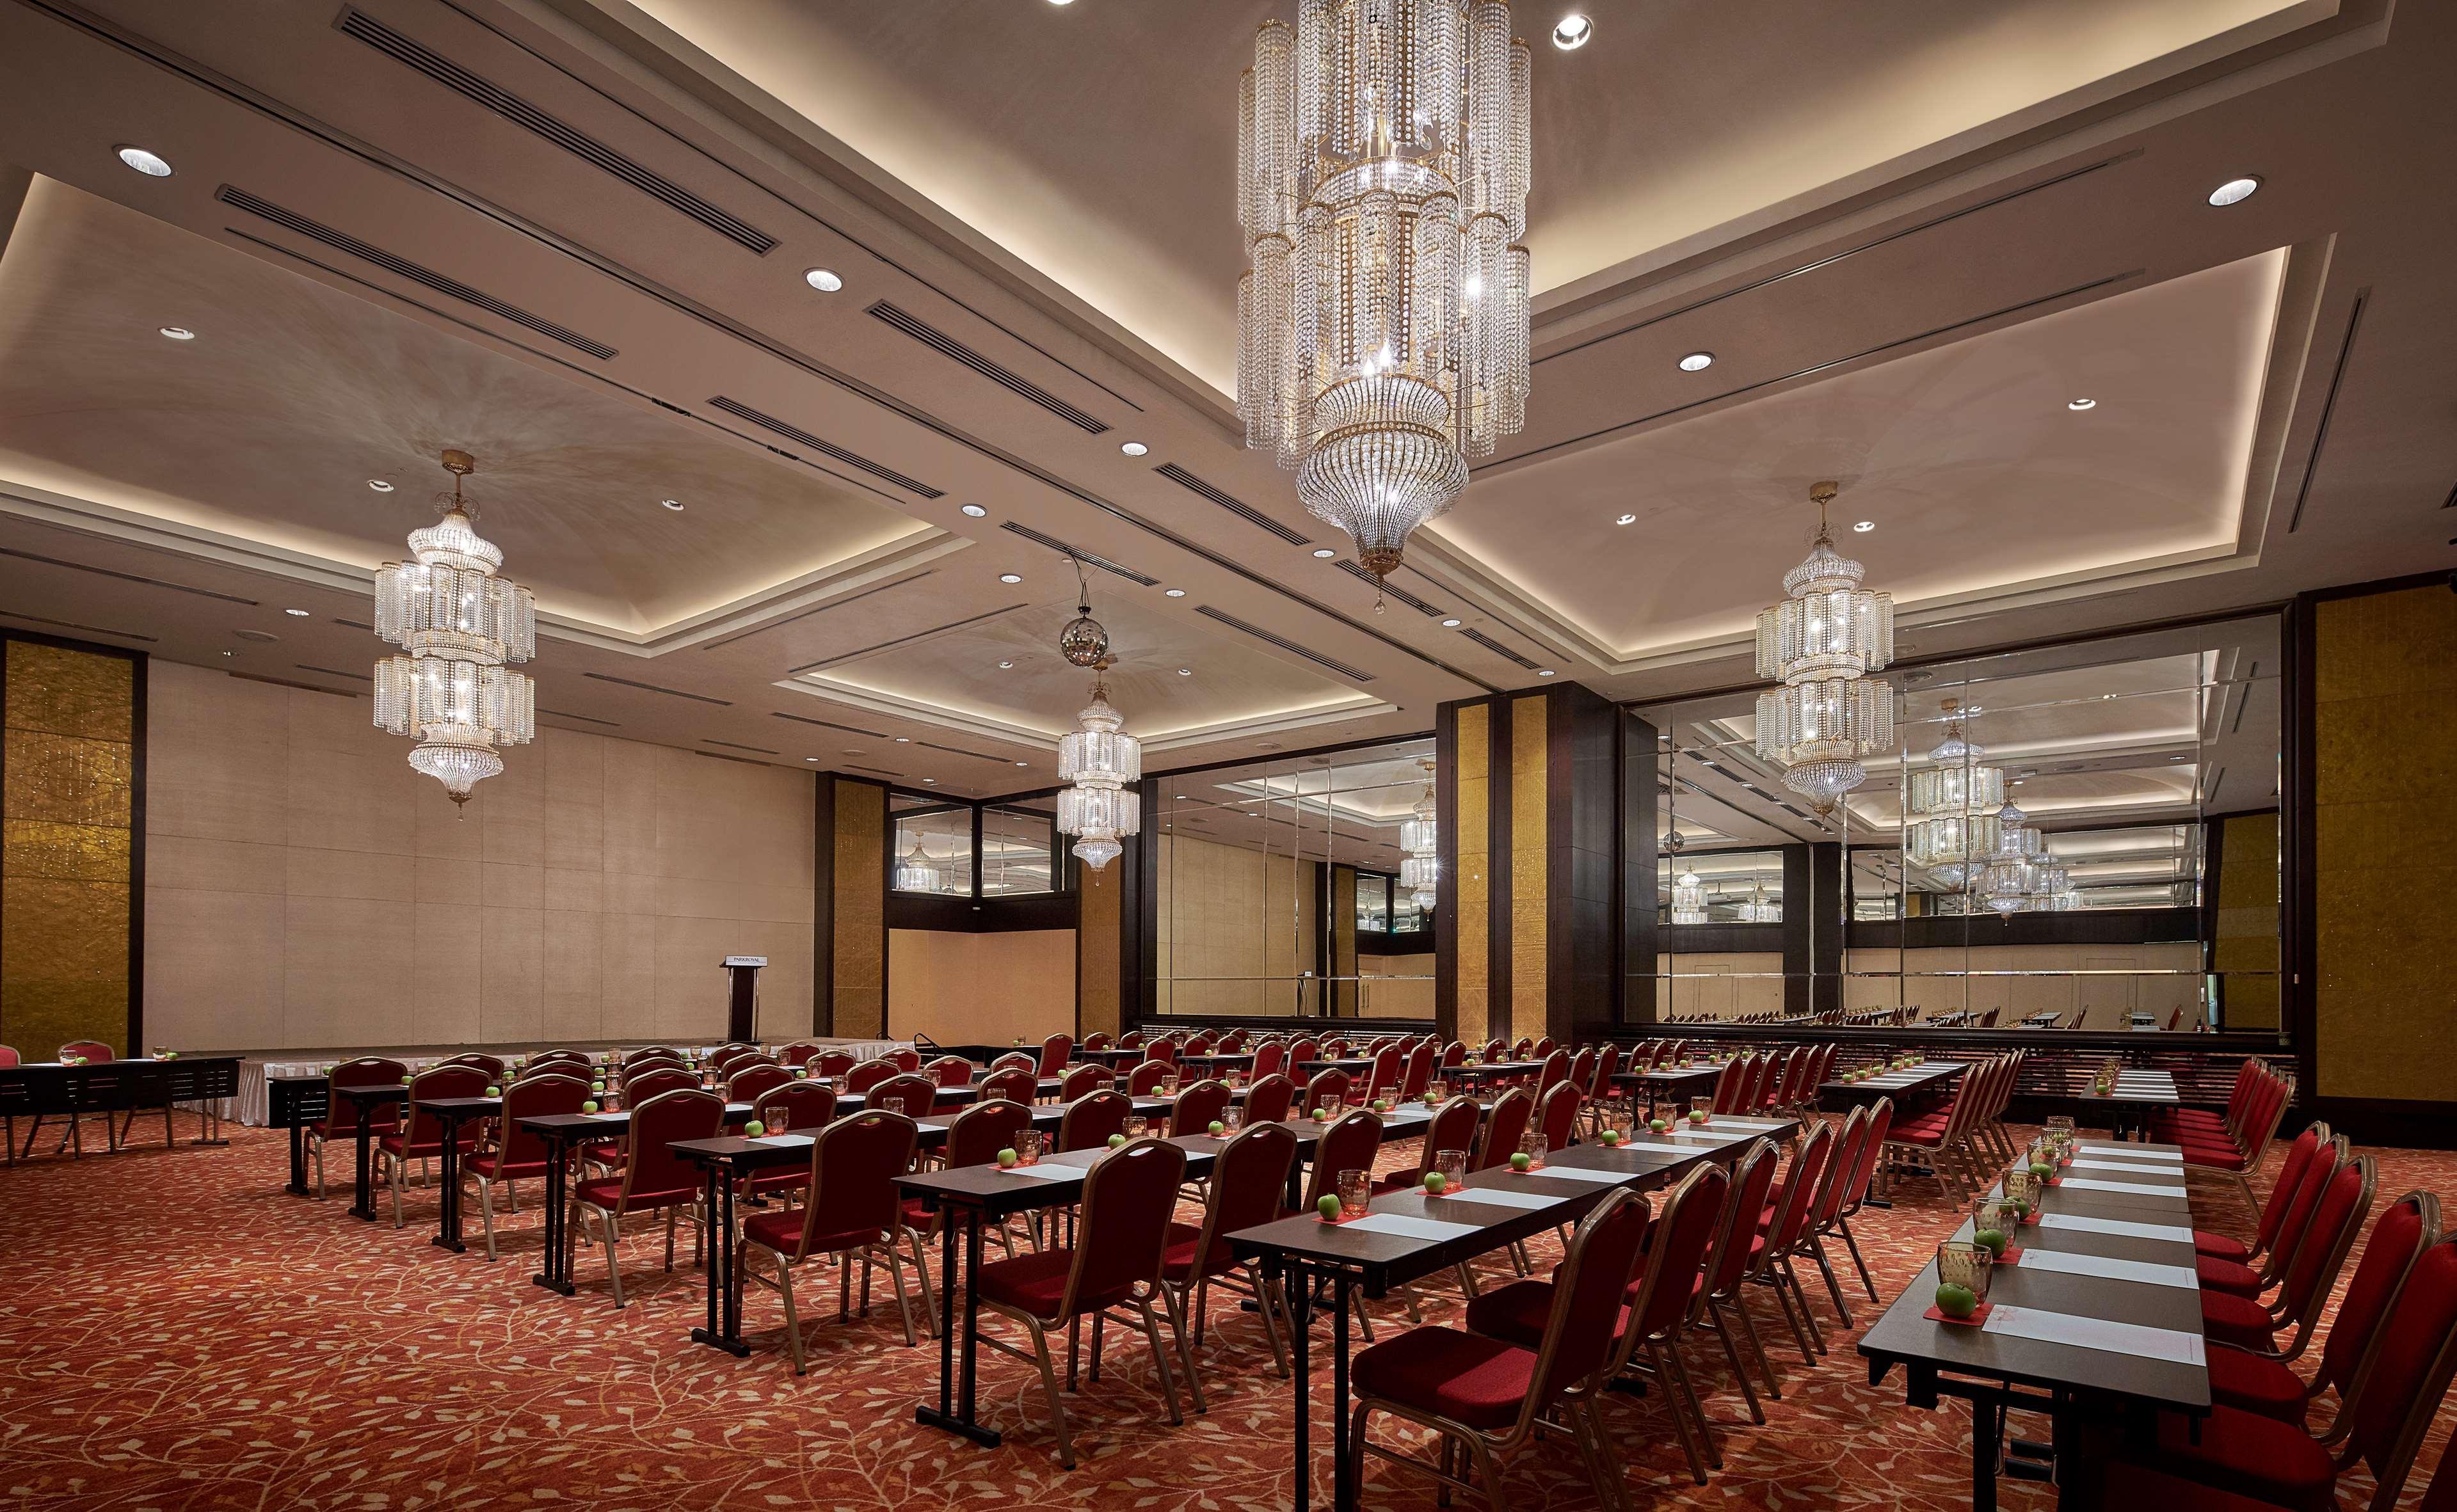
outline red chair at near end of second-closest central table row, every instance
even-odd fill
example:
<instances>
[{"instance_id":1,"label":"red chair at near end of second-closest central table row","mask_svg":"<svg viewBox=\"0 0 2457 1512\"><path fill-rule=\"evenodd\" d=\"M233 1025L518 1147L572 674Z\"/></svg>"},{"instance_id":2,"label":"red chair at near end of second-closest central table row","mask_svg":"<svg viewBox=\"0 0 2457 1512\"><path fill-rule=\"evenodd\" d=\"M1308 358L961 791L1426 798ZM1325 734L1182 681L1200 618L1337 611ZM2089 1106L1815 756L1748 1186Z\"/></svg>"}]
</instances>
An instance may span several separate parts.
<instances>
[{"instance_id":1,"label":"red chair at near end of second-closest central table row","mask_svg":"<svg viewBox=\"0 0 2457 1512\"><path fill-rule=\"evenodd\" d=\"M1103 1097L1115 1095L1103 1092ZM1057 1419L1059 1463L1069 1470L1074 1470L1074 1436L1066 1431L1066 1402L1059 1394L1057 1370L1049 1365L1049 1330L1061 1323L1093 1321L1093 1375L1101 1370L1101 1321L1115 1316L1120 1325L1140 1325L1152 1345L1152 1367L1160 1372L1160 1389L1170 1404L1170 1424L1184 1424L1184 1414L1177 1409L1170 1352L1160 1343L1160 1316L1152 1311L1152 1303L1167 1296L1162 1264L1170 1249L1170 1213L1184 1176L1187 1151L1160 1139L1138 1139L1103 1159L1084 1178L1084 1222L1071 1249L993 1259L975 1274L980 1311L1020 1323L1032 1338L1029 1352L988 1333L980 1338L980 1348L1039 1367L1042 1389L1049 1394L1049 1416ZM1184 1357L1184 1340L1179 1340L1179 1357ZM1069 1379L1074 1379L1074 1330L1069 1330Z\"/></svg>"}]
</instances>

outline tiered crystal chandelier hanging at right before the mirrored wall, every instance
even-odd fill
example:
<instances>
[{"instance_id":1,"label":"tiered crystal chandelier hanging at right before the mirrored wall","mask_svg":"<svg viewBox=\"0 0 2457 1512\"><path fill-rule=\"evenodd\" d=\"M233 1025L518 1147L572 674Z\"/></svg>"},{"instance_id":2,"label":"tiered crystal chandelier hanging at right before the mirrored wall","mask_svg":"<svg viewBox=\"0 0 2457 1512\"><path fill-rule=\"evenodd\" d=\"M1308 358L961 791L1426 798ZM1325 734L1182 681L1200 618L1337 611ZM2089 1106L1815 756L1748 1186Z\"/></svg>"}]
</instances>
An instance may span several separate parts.
<instances>
[{"instance_id":1,"label":"tiered crystal chandelier hanging at right before the mirrored wall","mask_svg":"<svg viewBox=\"0 0 2457 1512\"><path fill-rule=\"evenodd\" d=\"M1894 744L1894 690L1867 673L1894 660L1894 596L1860 587L1862 567L1835 552L1813 484L1818 540L1784 574L1781 604L1757 616L1757 675L1784 685L1757 697L1757 754L1784 766L1784 785L1821 815L1867 781L1862 756Z\"/></svg>"}]
</instances>

